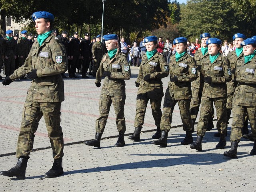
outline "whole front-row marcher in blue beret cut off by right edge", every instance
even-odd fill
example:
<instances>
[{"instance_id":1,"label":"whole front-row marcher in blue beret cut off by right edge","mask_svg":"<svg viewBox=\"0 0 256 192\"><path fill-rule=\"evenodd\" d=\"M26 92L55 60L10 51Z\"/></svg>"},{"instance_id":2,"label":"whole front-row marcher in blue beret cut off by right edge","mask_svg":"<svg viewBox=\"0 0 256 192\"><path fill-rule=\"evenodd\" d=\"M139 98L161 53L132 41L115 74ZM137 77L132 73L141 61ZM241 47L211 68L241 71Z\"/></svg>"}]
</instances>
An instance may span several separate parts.
<instances>
[{"instance_id":1,"label":"whole front-row marcher in blue beret cut off by right edge","mask_svg":"<svg viewBox=\"0 0 256 192\"><path fill-rule=\"evenodd\" d=\"M233 122L231 128L231 148L224 152L224 156L236 158L238 143L242 137L245 113L247 111L251 124L254 146L250 152L256 155L256 40L248 38L242 41L244 56L239 56L236 61L236 68L232 70L236 82L233 104Z\"/></svg>"}]
</instances>

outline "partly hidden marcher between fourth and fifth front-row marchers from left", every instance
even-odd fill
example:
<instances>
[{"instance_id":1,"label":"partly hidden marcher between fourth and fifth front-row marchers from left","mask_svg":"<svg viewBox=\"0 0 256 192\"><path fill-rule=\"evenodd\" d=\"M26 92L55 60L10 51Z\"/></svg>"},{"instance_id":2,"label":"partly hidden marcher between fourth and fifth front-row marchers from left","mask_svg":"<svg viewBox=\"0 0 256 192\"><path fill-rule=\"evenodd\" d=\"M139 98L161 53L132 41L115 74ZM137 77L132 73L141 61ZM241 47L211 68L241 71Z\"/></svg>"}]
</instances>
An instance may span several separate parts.
<instances>
[{"instance_id":1,"label":"partly hidden marcher between fourth and fifth front-row marchers from left","mask_svg":"<svg viewBox=\"0 0 256 192\"><path fill-rule=\"evenodd\" d=\"M200 70L201 70L201 62L202 62L202 58L204 58L205 56L209 55L208 54L208 46L206 45L206 41L211 38L210 33L203 33L200 35L200 39L201 39L201 45L202 48L196 50L195 54L194 54L194 59L196 61L196 66L197 66L197 79L194 80L191 83L192 86L192 99L190 102L190 116L192 119L192 132L194 132L194 124L199 112L199 106L201 104L201 98L202 98L202 92L203 92L203 87L204 87L204 80L202 79ZM207 130L211 130L212 128L214 128L213 125L213 120L214 118L214 108L211 108L211 115L210 118L208 120L208 124L207 124Z\"/></svg>"}]
</instances>

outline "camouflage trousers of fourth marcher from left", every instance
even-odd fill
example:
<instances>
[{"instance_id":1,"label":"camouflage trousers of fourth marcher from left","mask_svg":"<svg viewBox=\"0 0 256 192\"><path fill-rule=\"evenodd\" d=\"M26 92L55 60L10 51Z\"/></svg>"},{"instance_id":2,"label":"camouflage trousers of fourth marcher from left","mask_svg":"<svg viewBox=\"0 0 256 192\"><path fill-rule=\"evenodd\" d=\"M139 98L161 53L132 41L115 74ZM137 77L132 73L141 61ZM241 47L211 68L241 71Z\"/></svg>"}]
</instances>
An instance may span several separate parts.
<instances>
[{"instance_id":1,"label":"camouflage trousers of fourth marcher from left","mask_svg":"<svg viewBox=\"0 0 256 192\"><path fill-rule=\"evenodd\" d=\"M190 131L192 128L192 121L189 113L190 100L191 99L175 100L174 96L170 96L169 89L167 88L164 96L164 112L161 118L160 129L165 130L166 132L170 131L172 126L172 113L178 102L183 130Z\"/></svg>"}]
</instances>

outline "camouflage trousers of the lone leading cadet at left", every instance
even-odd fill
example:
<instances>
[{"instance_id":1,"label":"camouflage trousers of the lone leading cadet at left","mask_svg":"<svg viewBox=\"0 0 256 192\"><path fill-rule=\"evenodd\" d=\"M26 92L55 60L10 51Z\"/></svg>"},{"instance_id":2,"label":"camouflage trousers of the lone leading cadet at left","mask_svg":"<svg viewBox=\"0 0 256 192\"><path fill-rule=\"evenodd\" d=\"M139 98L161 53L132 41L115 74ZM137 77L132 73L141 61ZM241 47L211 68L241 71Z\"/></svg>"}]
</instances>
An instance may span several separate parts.
<instances>
[{"instance_id":1,"label":"camouflage trousers of the lone leading cadet at left","mask_svg":"<svg viewBox=\"0 0 256 192\"><path fill-rule=\"evenodd\" d=\"M26 100L22 112L22 123L16 157L25 156L29 158L33 149L35 132L42 116L48 131L48 137L52 146L52 156L54 159L61 158L63 154L63 133L60 126L61 102L32 102Z\"/></svg>"}]
</instances>

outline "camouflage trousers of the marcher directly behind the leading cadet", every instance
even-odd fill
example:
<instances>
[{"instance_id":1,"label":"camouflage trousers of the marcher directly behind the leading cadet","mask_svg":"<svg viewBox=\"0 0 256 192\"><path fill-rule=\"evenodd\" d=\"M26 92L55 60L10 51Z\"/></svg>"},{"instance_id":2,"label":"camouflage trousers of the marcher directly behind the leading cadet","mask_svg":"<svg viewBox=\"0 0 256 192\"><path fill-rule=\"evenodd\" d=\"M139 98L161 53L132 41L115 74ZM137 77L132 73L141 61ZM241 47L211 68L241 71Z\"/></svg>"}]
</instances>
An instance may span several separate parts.
<instances>
[{"instance_id":1,"label":"camouflage trousers of the marcher directly behind the leading cadet","mask_svg":"<svg viewBox=\"0 0 256 192\"><path fill-rule=\"evenodd\" d=\"M100 101L99 101L100 116L98 119L96 119L96 122L95 122L96 132L100 132L100 133L104 132L112 102L113 102L113 106L116 114L117 130L118 132L123 132L123 133L126 131L125 118L124 118L125 98L126 96L123 96L123 95L122 96L109 96L106 94L100 95Z\"/></svg>"}]
</instances>

